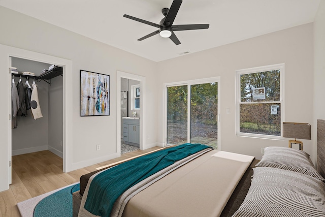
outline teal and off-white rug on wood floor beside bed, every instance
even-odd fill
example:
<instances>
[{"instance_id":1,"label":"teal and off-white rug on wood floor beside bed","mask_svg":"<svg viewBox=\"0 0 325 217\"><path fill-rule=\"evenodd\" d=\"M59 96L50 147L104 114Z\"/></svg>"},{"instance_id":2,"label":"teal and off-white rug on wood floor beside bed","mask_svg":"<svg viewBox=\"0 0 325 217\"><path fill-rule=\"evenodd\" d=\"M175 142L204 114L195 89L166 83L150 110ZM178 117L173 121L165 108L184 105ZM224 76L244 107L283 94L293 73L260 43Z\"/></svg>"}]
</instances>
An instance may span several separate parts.
<instances>
[{"instance_id":1,"label":"teal and off-white rug on wood floor beside bed","mask_svg":"<svg viewBox=\"0 0 325 217\"><path fill-rule=\"evenodd\" d=\"M80 190L80 184L54 190L17 204L22 217L72 216L72 193Z\"/></svg>"}]
</instances>

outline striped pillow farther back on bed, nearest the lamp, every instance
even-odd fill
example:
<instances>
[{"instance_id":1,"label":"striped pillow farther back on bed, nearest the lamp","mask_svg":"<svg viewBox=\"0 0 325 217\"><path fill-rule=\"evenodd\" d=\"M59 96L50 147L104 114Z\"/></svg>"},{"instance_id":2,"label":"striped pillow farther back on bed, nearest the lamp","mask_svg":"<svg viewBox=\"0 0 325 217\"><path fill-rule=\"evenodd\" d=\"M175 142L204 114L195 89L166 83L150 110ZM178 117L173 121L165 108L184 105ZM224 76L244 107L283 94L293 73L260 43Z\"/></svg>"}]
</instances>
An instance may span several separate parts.
<instances>
[{"instance_id":1,"label":"striped pillow farther back on bed, nearest the lamp","mask_svg":"<svg viewBox=\"0 0 325 217\"><path fill-rule=\"evenodd\" d=\"M266 147L264 156L256 164L256 167L274 167L295 171L325 181L314 168L309 154L302 150L286 147Z\"/></svg>"}]
</instances>

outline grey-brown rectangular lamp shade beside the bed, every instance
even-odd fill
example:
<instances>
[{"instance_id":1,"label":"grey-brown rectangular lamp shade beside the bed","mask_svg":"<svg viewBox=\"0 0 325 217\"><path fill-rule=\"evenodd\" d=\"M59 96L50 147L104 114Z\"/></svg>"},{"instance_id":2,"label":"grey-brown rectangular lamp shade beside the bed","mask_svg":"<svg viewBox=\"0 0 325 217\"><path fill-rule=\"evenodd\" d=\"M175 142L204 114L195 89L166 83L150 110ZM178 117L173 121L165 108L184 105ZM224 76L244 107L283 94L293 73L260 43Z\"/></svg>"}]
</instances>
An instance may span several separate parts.
<instances>
[{"instance_id":1,"label":"grey-brown rectangular lamp shade beside the bed","mask_svg":"<svg viewBox=\"0 0 325 217\"><path fill-rule=\"evenodd\" d=\"M283 122L283 137L311 139L311 125L309 123Z\"/></svg>"}]
</instances>

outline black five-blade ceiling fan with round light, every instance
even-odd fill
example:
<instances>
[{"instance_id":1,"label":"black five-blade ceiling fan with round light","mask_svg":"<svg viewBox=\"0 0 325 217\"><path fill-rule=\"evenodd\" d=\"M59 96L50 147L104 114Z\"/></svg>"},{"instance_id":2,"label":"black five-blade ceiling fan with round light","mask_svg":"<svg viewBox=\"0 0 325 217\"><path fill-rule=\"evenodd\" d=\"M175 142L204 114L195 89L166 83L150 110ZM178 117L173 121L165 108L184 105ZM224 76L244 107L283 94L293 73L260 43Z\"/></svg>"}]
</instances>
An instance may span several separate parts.
<instances>
[{"instance_id":1,"label":"black five-blade ceiling fan with round light","mask_svg":"<svg viewBox=\"0 0 325 217\"><path fill-rule=\"evenodd\" d=\"M161 19L161 21L159 22L159 24L153 23L153 22L149 22L147 20L143 20L143 19L139 19L137 17L133 17L133 16L129 16L124 14L123 17L138 21L138 22L142 22L154 27L159 28L158 30L156 30L153 33L150 33L140 39L138 39L138 41L142 41L144 39L147 39L151 36L157 35L159 33L159 35L163 38L170 38L176 45L179 45L181 42L178 40L178 38L176 37L176 35L174 34L175 31L183 31L183 30L193 30L193 29L207 29L209 28L209 24L187 24L187 25L173 25L173 22L175 20L175 17L177 15L177 12L182 4L182 0L174 0L170 9L168 8L163 8L161 10L161 13L163 13L163 15L165 16L163 19Z\"/></svg>"}]
</instances>

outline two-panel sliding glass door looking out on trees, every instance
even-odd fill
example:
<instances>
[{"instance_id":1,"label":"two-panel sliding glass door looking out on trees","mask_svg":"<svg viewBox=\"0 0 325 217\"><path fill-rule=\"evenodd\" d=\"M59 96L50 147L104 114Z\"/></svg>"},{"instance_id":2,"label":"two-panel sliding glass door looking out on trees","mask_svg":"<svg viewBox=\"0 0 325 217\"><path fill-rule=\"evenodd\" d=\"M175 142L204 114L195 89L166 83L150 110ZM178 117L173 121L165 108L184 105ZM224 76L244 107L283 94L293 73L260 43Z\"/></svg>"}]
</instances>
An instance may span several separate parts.
<instances>
[{"instance_id":1,"label":"two-panel sliding glass door looking out on trees","mask_svg":"<svg viewBox=\"0 0 325 217\"><path fill-rule=\"evenodd\" d=\"M201 143L217 149L218 79L166 87L167 144Z\"/></svg>"}]
</instances>

